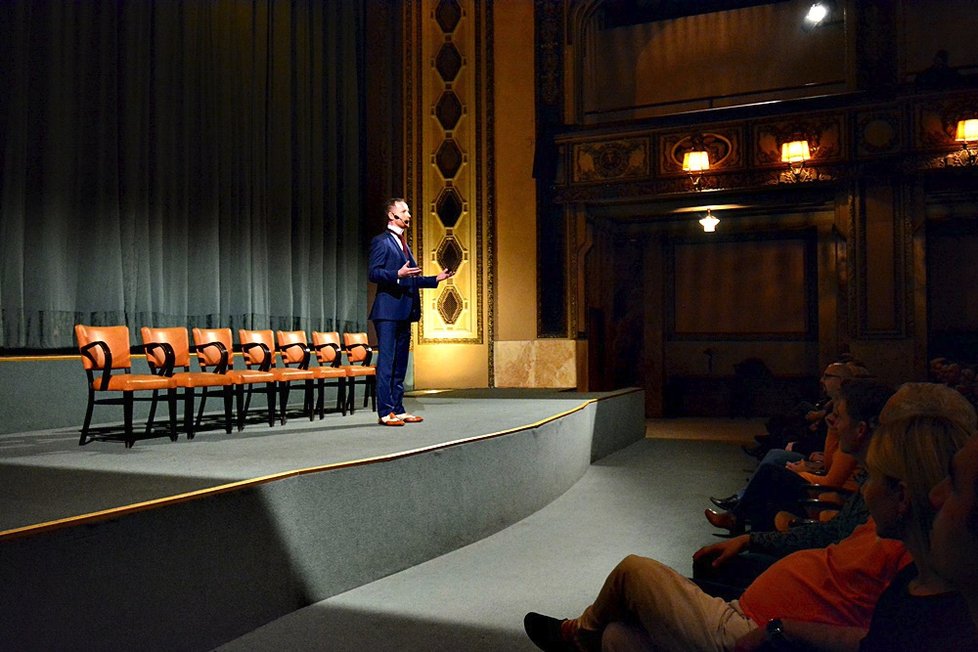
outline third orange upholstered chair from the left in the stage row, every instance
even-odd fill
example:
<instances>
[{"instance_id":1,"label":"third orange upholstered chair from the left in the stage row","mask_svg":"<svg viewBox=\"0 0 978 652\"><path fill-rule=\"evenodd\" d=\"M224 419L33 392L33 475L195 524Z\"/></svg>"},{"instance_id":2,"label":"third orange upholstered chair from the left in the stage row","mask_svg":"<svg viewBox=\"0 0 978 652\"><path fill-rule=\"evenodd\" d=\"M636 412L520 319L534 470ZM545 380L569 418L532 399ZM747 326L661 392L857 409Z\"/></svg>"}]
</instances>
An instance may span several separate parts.
<instances>
[{"instance_id":1,"label":"third orange upholstered chair from the left in the stage row","mask_svg":"<svg viewBox=\"0 0 978 652\"><path fill-rule=\"evenodd\" d=\"M251 394L254 385L265 383L265 395L268 398L268 425L275 425L275 374L257 369L235 369L234 351L230 328L195 328L193 329L194 350L197 353L197 364L203 371L225 374L234 386L237 405L238 430L244 428L245 416L251 405ZM248 398L245 400L245 387L248 388ZM207 395L200 399L200 409L204 409Z\"/></svg>"}]
</instances>

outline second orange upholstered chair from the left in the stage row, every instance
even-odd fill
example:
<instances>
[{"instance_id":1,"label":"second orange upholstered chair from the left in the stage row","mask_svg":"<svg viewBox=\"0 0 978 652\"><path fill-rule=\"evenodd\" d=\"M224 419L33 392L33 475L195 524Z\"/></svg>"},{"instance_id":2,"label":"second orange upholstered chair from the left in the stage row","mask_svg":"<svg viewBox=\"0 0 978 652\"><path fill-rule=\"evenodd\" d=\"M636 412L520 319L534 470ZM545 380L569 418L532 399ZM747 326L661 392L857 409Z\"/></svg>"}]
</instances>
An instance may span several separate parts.
<instances>
[{"instance_id":1,"label":"second orange upholstered chair from the left in the stage row","mask_svg":"<svg viewBox=\"0 0 978 652\"><path fill-rule=\"evenodd\" d=\"M149 368L157 375L173 378L177 387L183 390L183 428L187 439L193 439L194 431L200 427L208 387L221 388L218 393L224 398L224 430L230 434L234 383L226 374L190 371L190 338L187 336L187 329L143 326L140 334ZM197 388L201 389L202 396L200 411L195 419L194 393Z\"/></svg>"}]
</instances>

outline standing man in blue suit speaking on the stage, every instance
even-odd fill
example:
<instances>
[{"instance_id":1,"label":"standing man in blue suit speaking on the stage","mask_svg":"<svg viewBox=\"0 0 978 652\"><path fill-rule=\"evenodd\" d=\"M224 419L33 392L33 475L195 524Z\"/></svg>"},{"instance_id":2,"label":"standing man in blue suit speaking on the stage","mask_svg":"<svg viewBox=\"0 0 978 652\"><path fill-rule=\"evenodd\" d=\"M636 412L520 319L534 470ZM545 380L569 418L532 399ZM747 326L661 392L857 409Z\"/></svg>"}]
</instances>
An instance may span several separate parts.
<instances>
[{"instance_id":1,"label":"standing man in blue suit speaking on the stage","mask_svg":"<svg viewBox=\"0 0 978 652\"><path fill-rule=\"evenodd\" d=\"M377 331L377 412L384 426L403 426L423 419L404 409L404 375L411 345L411 322L421 318L421 288L434 288L450 278L453 270L422 276L407 230L411 210L400 197L386 203L387 230L370 242L370 281L377 296L370 320Z\"/></svg>"}]
</instances>

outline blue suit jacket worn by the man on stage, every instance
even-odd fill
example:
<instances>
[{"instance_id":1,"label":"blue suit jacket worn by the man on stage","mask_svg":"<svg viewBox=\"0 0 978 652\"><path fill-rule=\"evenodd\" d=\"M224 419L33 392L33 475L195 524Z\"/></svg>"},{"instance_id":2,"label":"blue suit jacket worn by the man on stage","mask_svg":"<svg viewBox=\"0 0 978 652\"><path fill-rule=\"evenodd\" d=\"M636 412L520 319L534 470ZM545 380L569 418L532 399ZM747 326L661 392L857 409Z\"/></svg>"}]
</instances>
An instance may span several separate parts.
<instances>
[{"instance_id":1,"label":"blue suit jacket worn by the man on stage","mask_svg":"<svg viewBox=\"0 0 978 652\"><path fill-rule=\"evenodd\" d=\"M417 267L410 250L407 260L411 267ZM377 297L370 309L371 320L418 321L421 318L420 288L438 287L438 279L434 276L399 279L397 270L404 262L404 251L393 231L384 231L370 241L369 279L377 284Z\"/></svg>"}]
</instances>

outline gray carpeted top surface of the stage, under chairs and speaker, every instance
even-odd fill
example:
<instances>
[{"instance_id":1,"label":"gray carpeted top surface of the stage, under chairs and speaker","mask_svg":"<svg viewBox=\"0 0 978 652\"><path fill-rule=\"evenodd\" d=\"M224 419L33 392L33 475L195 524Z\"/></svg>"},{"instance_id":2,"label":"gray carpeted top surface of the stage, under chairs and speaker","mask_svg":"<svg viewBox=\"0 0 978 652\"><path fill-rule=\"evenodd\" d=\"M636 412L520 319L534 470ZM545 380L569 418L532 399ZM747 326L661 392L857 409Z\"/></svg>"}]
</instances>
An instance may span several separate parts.
<instances>
[{"instance_id":1,"label":"gray carpeted top surface of the stage, under chairs and speaker","mask_svg":"<svg viewBox=\"0 0 978 652\"><path fill-rule=\"evenodd\" d=\"M269 427L261 403L248 426L228 435L209 429L171 442L159 430L127 450L122 441L78 446L77 428L0 435L0 536L9 530L143 501L289 474L302 469L383 458L524 428L606 394L548 390L455 390L409 395L425 417L403 428L377 425L369 409L327 413L314 421L292 411ZM215 403L212 399L212 403ZM161 408L165 416L165 408ZM121 414L103 407L99 415ZM157 417L157 422L160 417ZM118 429L116 429L117 431Z\"/></svg>"}]
</instances>

